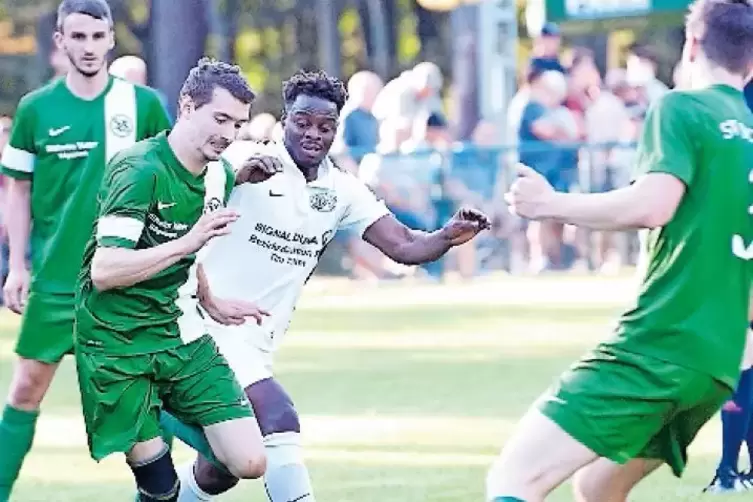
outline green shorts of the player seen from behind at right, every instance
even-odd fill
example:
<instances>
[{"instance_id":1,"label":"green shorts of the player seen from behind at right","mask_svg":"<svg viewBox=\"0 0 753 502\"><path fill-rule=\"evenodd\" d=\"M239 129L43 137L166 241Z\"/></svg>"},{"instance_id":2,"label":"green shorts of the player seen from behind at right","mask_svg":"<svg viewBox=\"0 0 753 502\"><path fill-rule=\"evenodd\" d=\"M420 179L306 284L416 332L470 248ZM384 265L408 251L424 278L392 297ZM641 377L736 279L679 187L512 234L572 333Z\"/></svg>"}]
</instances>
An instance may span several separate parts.
<instances>
[{"instance_id":1,"label":"green shorts of the player seen from behind at right","mask_svg":"<svg viewBox=\"0 0 753 502\"><path fill-rule=\"evenodd\" d=\"M688 446L731 393L709 375L601 346L566 371L539 408L601 457L663 460L679 477Z\"/></svg>"}]
</instances>

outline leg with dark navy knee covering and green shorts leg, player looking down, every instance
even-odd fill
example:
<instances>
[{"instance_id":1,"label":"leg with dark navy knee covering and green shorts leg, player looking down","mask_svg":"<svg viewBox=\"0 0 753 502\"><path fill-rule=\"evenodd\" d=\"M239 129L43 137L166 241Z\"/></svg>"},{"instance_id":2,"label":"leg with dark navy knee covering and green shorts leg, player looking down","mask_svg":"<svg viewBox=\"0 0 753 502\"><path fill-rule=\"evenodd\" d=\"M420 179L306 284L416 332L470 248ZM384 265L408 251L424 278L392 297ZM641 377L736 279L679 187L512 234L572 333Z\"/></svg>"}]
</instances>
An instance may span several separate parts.
<instances>
[{"instance_id":1,"label":"leg with dark navy knee covering and green shorts leg, player looking down","mask_svg":"<svg viewBox=\"0 0 753 502\"><path fill-rule=\"evenodd\" d=\"M76 353L81 405L92 458L125 453L141 502L175 501L179 482L159 425L159 355Z\"/></svg>"}]
</instances>

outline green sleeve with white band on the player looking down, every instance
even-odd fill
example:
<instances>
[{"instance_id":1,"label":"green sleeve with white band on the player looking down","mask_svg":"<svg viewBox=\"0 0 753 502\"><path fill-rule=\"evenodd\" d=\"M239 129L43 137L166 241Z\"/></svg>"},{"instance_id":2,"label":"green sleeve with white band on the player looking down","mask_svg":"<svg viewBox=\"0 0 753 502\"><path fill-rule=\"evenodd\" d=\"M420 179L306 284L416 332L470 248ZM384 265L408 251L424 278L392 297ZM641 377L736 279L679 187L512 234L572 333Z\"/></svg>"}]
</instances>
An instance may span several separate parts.
<instances>
[{"instance_id":1,"label":"green sleeve with white band on the player looking down","mask_svg":"<svg viewBox=\"0 0 753 502\"><path fill-rule=\"evenodd\" d=\"M100 191L97 245L133 249L153 204L155 177L127 158L107 169Z\"/></svg>"}]
</instances>

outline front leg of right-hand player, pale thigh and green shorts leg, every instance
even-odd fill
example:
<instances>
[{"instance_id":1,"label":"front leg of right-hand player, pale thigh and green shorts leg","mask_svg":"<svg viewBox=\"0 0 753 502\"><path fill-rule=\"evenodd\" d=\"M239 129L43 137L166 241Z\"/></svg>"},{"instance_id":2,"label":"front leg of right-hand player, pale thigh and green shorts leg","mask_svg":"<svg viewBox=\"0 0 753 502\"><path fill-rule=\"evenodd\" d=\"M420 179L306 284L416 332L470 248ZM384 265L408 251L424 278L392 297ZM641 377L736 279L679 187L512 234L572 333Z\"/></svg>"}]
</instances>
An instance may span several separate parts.
<instances>
[{"instance_id":1,"label":"front leg of right-hand player, pale thigh and green shorts leg","mask_svg":"<svg viewBox=\"0 0 753 502\"><path fill-rule=\"evenodd\" d=\"M601 347L576 363L505 445L489 475L489 498L543 500L599 457L637 458L674 407L680 371L644 359Z\"/></svg>"}]
</instances>

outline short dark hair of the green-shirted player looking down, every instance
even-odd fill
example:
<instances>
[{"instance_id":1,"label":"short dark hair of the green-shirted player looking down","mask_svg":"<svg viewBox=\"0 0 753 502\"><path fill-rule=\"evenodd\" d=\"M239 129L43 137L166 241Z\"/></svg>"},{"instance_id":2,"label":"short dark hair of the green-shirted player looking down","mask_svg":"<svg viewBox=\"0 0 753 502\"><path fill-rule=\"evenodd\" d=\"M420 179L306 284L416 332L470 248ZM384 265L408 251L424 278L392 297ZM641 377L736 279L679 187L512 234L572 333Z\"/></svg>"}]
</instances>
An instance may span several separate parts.
<instances>
[{"instance_id":1,"label":"short dark hair of the green-shirted player looking down","mask_svg":"<svg viewBox=\"0 0 753 502\"><path fill-rule=\"evenodd\" d=\"M191 68L186 81L183 82L180 95L188 96L196 108L200 108L212 100L217 87L225 89L235 99L247 105L253 103L256 98L238 66L212 58L201 58L196 66Z\"/></svg>"}]
</instances>

